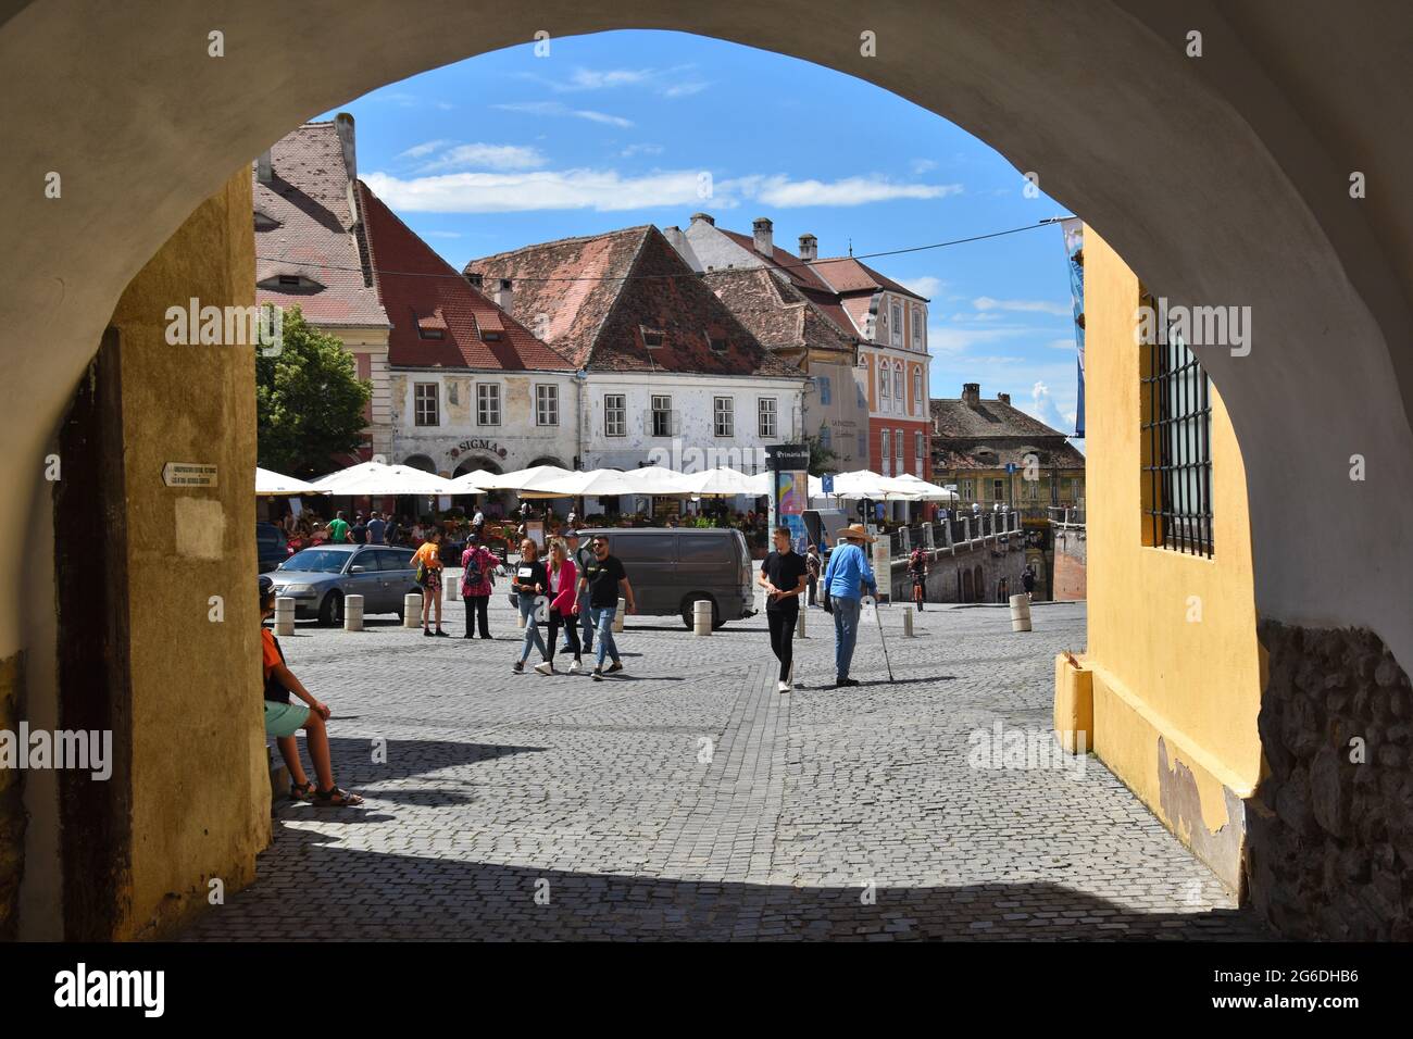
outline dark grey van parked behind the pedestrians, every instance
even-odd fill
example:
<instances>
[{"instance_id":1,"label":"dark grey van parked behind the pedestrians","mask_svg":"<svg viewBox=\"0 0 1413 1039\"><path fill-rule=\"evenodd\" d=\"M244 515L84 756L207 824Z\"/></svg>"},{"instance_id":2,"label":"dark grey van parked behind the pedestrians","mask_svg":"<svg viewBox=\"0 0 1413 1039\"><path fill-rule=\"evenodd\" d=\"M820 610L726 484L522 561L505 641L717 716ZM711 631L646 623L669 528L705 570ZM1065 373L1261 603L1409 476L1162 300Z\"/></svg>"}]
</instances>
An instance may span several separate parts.
<instances>
[{"instance_id":1,"label":"dark grey van parked behind the pedestrians","mask_svg":"<svg viewBox=\"0 0 1413 1039\"><path fill-rule=\"evenodd\" d=\"M637 612L675 614L688 628L698 599L712 604L712 628L753 616L750 550L739 530L712 527L608 527L581 530L581 544L608 537L623 561Z\"/></svg>"}]
</instances>

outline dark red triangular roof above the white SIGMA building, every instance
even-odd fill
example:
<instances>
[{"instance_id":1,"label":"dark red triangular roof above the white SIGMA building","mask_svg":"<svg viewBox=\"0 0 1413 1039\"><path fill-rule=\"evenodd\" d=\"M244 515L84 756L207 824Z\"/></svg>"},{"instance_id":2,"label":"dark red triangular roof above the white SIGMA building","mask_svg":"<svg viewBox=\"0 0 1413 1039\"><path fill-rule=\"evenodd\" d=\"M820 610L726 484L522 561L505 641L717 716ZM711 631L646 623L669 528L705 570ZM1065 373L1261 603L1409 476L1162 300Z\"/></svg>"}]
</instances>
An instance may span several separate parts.
<instances>
[{"instance_id":1,"label":"dark red triangular roof above the white SIGMA building","mask_svg":"<svg viewBox=\"0 0 1413 1039\"><path fill-rule=\"evenodd\" d=\"M567 358L473 288L362 181L359 191L377 291L393 322L391 366L572 370ZM422 338L418 329L439 331L442 338Z\"/></svg>"}]
</instances>

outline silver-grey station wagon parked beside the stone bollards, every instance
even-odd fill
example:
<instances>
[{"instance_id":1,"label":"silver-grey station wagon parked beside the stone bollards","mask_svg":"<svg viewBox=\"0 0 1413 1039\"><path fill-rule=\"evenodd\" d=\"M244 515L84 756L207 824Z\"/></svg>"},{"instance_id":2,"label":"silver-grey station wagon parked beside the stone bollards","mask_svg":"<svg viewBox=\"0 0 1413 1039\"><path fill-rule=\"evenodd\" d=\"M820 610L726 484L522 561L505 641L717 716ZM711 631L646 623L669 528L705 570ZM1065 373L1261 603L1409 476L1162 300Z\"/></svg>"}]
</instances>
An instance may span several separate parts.
<instances>
[{"instance_id":1,"label":"silver-grey station wagon parked beside the stone bollards","mask_svg":"<svg viewBox=\"0 0 1413 1039\"><path fill-rule=\"evenodd\" d=\"M319 544L301 548L268 574L274 594L295 602L294 615L343 622L343 597L362 595L363 614L403 615L403 597L421 595L411 548Z\"/></svg>"}]
</instances>

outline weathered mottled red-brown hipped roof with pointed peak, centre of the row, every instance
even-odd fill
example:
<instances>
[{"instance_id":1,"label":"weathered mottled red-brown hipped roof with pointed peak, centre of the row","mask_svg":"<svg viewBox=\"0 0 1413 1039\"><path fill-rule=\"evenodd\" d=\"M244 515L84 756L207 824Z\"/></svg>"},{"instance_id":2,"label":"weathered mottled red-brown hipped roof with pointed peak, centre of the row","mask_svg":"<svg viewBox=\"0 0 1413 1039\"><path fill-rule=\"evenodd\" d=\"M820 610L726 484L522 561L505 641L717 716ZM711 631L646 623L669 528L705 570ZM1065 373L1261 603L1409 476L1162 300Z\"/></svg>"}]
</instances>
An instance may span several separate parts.
<instances>
[{"instance_id":1,"label":"weathered mottled red-brown hipped roof with pointed peak, centre of the row","mask_svg":"<svg viewBox=\"0 0 1413 1039\"><path fill-rule=\"evenodd\" d=\"M510 278L514 314L577 368L617 372L798 376L718 300L651 226L560 239L466 264ZM661 334L649 348L644 334ZM711 339L725 341L723 351Z\"/></svg>"}]
</instances>

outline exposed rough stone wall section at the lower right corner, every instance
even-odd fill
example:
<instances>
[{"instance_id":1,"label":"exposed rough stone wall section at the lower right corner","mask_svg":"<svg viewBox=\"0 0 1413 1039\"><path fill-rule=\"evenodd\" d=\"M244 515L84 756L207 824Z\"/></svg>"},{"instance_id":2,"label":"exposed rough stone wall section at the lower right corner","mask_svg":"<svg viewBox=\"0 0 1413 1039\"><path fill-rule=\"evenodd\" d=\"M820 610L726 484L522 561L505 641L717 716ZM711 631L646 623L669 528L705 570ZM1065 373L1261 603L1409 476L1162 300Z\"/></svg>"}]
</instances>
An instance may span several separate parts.
<instances>
[{"instance_id":1,"label":"exposed rough stone wall section at the lower right corner","mask_svg":"<svg viewBox=\"0 0 1413 1039\"><path fill-rule=\"evenodd\" d=\"M1287 937L1413 940L1413 690L1368 630L1262 622L1252 903Z\"/></svg>"}]
</instances>

